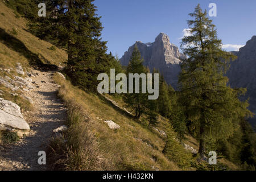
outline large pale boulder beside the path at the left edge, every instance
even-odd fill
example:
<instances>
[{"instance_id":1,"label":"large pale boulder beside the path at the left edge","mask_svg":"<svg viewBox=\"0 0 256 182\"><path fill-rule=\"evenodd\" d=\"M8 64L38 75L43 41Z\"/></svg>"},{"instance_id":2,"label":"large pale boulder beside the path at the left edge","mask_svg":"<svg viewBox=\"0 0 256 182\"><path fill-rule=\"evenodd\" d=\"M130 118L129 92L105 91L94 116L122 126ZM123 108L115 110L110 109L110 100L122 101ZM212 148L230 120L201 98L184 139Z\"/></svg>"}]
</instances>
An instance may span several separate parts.
<instances>
[{"instance_id":1,"label":"large pale boulder beside the path at the left edge","mask_svg":"<svg viewBox=\"0 0 256 182\"><path fill-rule=\"evenodd\" d=\"M0 125L1 130L30 130L30 126L20 112L20 107L3 98L0 98Z\"/></svg>"}]
</instances>

